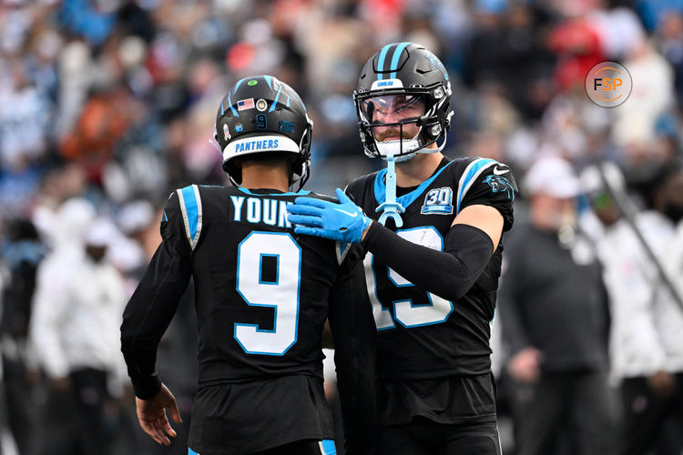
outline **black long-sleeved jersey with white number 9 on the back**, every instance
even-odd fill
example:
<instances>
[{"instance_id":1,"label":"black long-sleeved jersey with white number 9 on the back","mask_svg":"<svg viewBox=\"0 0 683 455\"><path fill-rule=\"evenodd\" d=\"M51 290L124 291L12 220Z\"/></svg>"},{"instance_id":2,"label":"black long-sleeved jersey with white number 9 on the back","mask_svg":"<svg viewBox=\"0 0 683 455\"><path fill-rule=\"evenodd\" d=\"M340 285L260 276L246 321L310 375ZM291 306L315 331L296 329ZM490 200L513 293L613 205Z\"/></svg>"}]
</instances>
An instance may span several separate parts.
<instances>
[{"instance_id":1,"label":"black long-sleeved jersey with white number 9 on the back","mask_svg":"<svg viewBox=\"0 0 683 455\"><path fill-rule=\"evenodd\" d=\"M344 381L351 384L347 402L356 397L363 399L366 392L372 394L372 379L361 378L366 371L372 375L372 368L362 363L372 364L367 349L372 349L374 337L372 316L364 306L364 291L358 290L362 289L362 250L295 235L286 217L286 206L304 194L309 192L196 185L171 194L162 216L162 243L127 305L121 328L122 349L138 397L148 399L158 391L154 366L158 340L190 277L194 279L199 322L200 393L221 384L259 384L264 379L303 376L317 379L309 383L318 384L320 393L309 393L309 386L301 383L298 388L307 390L303 396L278 401L300 400L302 412L319 408L320 399L313 400L313 396L323 396L321 333L329 316L338 373L343 377L339 383L342 406ZM358 302L370 321L365 325L369 330L363 330L365 319L355 312ZM263 391L270 398L275 393ZM284 388L277 393L290 392ZM304 406L303 401L311 401L311 406ZM347 410L352 412L357 405L354 402ZM261 419L270 422L273 443L297 440L299 436L331 436L328 430L318 434L311 428L301 429L301 435L278 434L277 421L273 420L280 411L270 415L269 410L255 405L228 411L233 418L265 412ZM297 410L289 411L291 419L295 419ZM215 420L217 416L210 418ZM268 441L263 441L267 435L251 434L255 428L238 428L240 420L249 421L225 420L235 422L235 428L223 429L225 434L234 436L239 432L242 439L259 439L268 446ZM304 416L301 421L309 420ZM290 427L283 425L282 429ZM195 429L193 422L193 434L209 433ZM219 441L216 439L217 444ZM213 443L205 442L194 443L202 450L217 450Z\"/></svg>"}]
</instances>

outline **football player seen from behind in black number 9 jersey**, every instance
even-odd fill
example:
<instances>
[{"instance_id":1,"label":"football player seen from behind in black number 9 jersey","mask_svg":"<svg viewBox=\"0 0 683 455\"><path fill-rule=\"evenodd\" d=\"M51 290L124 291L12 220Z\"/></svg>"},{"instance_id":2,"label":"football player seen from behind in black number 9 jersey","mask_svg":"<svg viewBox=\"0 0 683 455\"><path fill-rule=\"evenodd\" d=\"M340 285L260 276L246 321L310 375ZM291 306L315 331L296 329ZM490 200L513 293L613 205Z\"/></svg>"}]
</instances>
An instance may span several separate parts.
<instances>
[{"instance_id":1,"label":"football player seen from behind in black number 9 jersey","mask_svg":"<svg viewBox=\"0 0 683 455\"><path fill-rule=\"evenodd\" d=\"M318 197L301 190L311 128L290 86L272 76L246 77L223 98L216 118L223 168L236 186L191 185L168 199L163 240L121 326L138 420L158 443L175 436L166 409L177 422L180 416L155 371L156 351L191 277L199 392L190 454L334 453L322 388L326 318L347 450L372 450L375 330L361 248L297 236L287 219L295 197Z\"/></svg>"}]
</instances>

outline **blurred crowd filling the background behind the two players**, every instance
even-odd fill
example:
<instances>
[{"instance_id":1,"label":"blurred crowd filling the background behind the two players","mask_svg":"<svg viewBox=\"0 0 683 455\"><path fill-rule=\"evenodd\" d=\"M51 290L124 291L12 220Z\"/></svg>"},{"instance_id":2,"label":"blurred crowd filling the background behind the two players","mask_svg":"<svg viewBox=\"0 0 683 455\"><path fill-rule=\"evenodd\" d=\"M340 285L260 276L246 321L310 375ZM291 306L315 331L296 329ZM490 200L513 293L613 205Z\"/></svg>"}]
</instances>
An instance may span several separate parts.
<instances>
[{"instance_id":1,"label":"blurred crowd filling the background behind the two players","mask_svg":"<svg viewBox=\"0 0 683 455\"><path fill-rule=\"evenodd\" d=\"M209 142L220 99L255 74L297 90L314 122L307 188L333 194L383 165L362 154L352 92L367 58L396 41L425 45L449 71L444 153L492 157L520 182L504 323L494 321L505 453L599 453L580 443L590 429L563 430L558 413L592 415L616 440L653 427L633 453L649 450L647 438L665 440L656 453L680 453L683 423L662 437L667 413L649 405L683 409L683 2L2 0L3 453L157 453L137 426L118 324L160 241L169 192L227 182ZM633 79L627 102L610 109L584 88L605 60ZM524 269L530 278L511 287L505 275L529 266L525 248L547 232L543 254L556 267L540 271L556 275ZM568 282L583 294L554 288ZM553 305L542 314L527 310L544 299ZM191 291L185 300L158 361L184 420L197 374ZM579 397L584 389L592 394ZM556 404L539 408L538 397ZM540 428L521 425L529 412L550 435L542 449L525 447ZM187 452L184 437L181 428L173 453Z\"/></svg>"}]
</instances>

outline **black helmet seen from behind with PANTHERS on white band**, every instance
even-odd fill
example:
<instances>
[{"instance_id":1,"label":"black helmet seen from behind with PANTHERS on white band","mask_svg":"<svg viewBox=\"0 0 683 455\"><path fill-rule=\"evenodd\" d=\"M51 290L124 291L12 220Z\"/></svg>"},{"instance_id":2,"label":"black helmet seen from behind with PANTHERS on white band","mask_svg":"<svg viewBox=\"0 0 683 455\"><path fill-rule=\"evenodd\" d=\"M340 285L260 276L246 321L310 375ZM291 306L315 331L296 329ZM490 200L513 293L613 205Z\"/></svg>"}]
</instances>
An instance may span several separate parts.
<instances>
[{"instance_id":1,"label":"black helmet seen from behind with PANTHERS on white band","mask_svg":"<svg viewBox=\"0 0 683 455\"><path fill-rule=\"evenodd\" d=\"M223 154L223 170L236 186L241 168L233 161L257 153L296 154L290 186L301 189L311 168L313 122L301 97L273 76L249 76L230 88L216 115L215 139Z\"/></svg>"}]
</instances>

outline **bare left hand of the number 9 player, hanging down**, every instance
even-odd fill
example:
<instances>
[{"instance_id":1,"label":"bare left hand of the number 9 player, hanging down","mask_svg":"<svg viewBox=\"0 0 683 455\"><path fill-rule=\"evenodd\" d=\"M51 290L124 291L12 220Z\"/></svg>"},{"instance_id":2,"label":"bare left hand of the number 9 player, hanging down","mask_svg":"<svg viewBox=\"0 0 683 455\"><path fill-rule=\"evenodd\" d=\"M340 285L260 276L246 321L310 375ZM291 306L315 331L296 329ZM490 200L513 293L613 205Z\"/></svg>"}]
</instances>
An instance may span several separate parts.
<instances>
[{"instance_id":1,"label":"bare left hand of the number 9 player, hanging down","mask_svg":"<svg viewBox=\"0 0 683 455\"><path fill-rule=\"evenodd\" d=\"M168 387L161 384L161 389L153 399L139 399L136 397L135 403L138 421L142 430L159 444L170 445L168 436L175 438L176 431L171 428L168 422L166 409L168 408L173 421L180 423L182 420L180 419L176 398L168 390Z\"/></svg>"}]
</instances>

